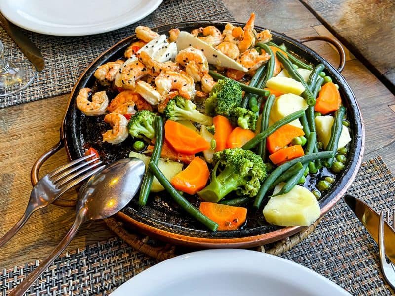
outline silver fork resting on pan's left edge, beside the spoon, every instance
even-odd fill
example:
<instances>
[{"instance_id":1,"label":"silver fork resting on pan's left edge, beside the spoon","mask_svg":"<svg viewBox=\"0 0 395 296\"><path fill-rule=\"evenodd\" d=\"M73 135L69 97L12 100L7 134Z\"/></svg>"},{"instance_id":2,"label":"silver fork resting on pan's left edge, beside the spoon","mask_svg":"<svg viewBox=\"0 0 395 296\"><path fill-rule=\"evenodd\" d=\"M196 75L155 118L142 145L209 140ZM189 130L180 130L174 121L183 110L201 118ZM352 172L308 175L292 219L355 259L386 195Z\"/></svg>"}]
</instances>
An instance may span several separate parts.
<instances>
[{"instance_id":1,"label":"silver fork resting on pan's left edge, beside the spoon","mask_svg":"<svg viewBox=\"0 0 395 296\"><path fill-rule=\"evenodd\" d=\"M0 247L22 228L34 211L48 206L70 188L104 169L105 165L99 166L102 163L95 154L90 154L69 162L42 177L33 187L28 206L22 218L0 238Z\"/></svg>"}]
</instances>

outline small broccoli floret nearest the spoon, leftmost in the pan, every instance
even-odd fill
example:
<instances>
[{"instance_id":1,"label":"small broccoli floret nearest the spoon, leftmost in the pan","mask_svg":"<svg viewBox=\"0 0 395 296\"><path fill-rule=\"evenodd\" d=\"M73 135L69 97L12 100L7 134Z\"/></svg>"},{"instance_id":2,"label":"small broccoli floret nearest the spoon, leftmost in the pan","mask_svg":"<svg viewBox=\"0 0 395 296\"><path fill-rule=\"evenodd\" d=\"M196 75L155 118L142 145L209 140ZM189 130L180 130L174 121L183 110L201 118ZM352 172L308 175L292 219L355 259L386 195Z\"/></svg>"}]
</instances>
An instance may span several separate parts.
<instances>
[{"instance_id":1,"label":"small broccoli floret nearest the spoon, leftmost in the pan","mask_svg":"<svg viewBox=\"0 0 395 296\"><path fill-rule=\"evenodd\" d=\"M127 129L129 134L135 138L154 139L155 129L154 129L154 119L155 114L148 110L141 110L134 114L127 124Z\"/></svg>"}]
</instances>

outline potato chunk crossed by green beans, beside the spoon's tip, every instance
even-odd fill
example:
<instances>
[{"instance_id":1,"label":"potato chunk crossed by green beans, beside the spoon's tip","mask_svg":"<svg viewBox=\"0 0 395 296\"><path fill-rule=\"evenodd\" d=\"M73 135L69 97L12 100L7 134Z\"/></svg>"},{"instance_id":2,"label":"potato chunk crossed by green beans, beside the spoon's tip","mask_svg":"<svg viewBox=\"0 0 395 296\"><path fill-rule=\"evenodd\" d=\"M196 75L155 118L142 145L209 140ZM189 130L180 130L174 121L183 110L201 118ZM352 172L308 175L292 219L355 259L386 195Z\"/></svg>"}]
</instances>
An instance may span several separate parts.
<instances>
[{"instance_id":1,"label":"potato chunk crossed by green beans, beside the spoon's tip","mask_svg":"<svg viewBox=\"0 0 395 296\"><path fill-rule=\"evenodd\" d=\"M144 161L145 169L146 169L146 171L148 170L148 163L150 162L151 157L140 154L140 153L136 153L133 151L129 153L129 157L136 157L136 158L139 158L142 161ZM182 171L182 163L171 161L168 159L163 159L163 158L159 158L158 167L159 167L160 171L163 173L163 175L169 181L176 174L178 174L179 172ZM151 191L152 192L159 192L159 191L163 191L163 190L164 190L164 188L159 183L158 179L154 178L154 180L152 182L152 186L151 186Z\"/></svg>"}]
</instances>

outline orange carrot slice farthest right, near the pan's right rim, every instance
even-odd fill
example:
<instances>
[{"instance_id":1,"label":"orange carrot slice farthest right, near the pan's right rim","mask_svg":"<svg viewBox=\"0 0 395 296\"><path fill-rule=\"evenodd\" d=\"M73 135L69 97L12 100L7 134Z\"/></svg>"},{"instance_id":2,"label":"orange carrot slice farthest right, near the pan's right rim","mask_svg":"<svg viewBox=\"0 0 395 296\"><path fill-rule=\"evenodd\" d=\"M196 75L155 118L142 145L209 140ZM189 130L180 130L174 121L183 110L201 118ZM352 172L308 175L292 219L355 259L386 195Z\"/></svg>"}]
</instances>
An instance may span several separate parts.
<instances>
[{"instance_id":1,"label":"orange carrot slice farthest right, near the pan's right rim","mask_svg":"<svg viewBox=\"0 0 395 296\"><path fill-rule=\"evenodd\" d=\"M339 90L333 82L327 82L319 91L314 110L326 115L338 110L341 104L342 99L340 98Z\"/></svg>"}]
</instances>

